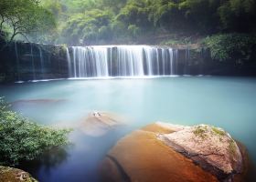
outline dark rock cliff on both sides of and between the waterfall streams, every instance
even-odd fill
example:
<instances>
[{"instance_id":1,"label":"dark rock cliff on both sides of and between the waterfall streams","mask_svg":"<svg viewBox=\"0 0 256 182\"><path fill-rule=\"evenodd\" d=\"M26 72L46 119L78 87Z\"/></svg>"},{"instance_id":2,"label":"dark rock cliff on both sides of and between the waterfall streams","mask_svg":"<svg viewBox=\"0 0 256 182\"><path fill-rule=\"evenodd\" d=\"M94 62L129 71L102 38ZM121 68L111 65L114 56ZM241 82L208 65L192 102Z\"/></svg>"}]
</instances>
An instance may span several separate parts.
<instances>
[{"instance_id":1,"label":"dark rock cliff on both sides of and between the waterfall streams","mask_svg":"<svg viewBox=\"0 0 256 182\"><path fill-rule=\"evenodd\" d=\"M0 45L0 47L3 46L3 44ZM154 47L156 50L161 50L163 47L168 48L159 45L154 45ZM113 47L112 50L114 49L116 49L116 47ZM1 48L0 82L68 78L69 71L75 69L80 70L80 63L76 61L77 65L73 66L71 68L72 70L70 70L67 50L69 50L70 61L73 66L74 57L72 49L67 49L65 45L40 45L17 42L5 48ZM218 60L212 60L208 49L176 47L173 51L176 54L173 57L175 67L172 68L175 75L256 76L256 66L234 66L231 63L221 63ZM114 59L113 53L112 59ZM162 53L158 51L157 55L152 56L161 59ZM112 64L110 60L111 59L108 60L108 65L112 67L109 67L109 69L113 70L111 76L116 76L114 72L116 65ZM90 61L90 64L95 64L92 62L93 61ZM154 64L155 63L153 63L153 66ZM159 64L159 66L161 66L161 63ZM146 64L144 64L144 66L146 66ZM156 68L157 66L154 66L154 69ZM92 72L92 70L88 70L90 69L89 67L85 69L88 73ZM165 67L165 69L167 68ZM147 74L146 71L144 72ZM160 70L160 73L162 72L164 71Z\"/></svg>"}]
</instances>

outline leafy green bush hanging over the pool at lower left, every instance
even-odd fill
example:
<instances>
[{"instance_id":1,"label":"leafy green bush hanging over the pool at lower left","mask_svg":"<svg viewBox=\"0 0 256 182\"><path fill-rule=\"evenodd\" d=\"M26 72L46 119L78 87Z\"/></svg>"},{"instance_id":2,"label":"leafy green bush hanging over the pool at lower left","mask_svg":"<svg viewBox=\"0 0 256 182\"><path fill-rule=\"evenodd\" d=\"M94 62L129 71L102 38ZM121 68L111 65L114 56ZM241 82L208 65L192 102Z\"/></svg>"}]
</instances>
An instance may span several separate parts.
<instances>
[{"instance_id":1,"label":"leafy green bush hanging over the pool at lower left","mask_svg":"<svg viewBox=\"0 0 256 182\"><path fill-rule=\"evenodd\" d=\"M69 129L55 129L30 122L8 110L0 98L0 165L16 166L51 147L68 144Z\"/></svg>"}]
</instances>

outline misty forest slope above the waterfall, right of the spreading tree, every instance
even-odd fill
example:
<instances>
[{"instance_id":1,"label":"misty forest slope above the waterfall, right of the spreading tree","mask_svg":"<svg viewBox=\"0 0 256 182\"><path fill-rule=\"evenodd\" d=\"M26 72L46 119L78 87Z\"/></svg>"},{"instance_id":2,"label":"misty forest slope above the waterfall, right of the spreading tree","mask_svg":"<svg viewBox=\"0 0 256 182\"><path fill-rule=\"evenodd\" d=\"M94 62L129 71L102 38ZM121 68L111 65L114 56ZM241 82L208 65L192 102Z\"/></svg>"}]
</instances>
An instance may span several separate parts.
<instances>
[{"instance_id":1,"label":"misty forest slope above the waterfall, right of the spreading tree","mask_svg":"<svg viewBox=\"0 0 256 182\"><path fill-rule=\"evenodd\" d=\"M55 15L56 41L72 45L165 35L253 32L253 0L42 0ZM149 38L150 37L150 38Z\"/></svg>"}]
</instances>

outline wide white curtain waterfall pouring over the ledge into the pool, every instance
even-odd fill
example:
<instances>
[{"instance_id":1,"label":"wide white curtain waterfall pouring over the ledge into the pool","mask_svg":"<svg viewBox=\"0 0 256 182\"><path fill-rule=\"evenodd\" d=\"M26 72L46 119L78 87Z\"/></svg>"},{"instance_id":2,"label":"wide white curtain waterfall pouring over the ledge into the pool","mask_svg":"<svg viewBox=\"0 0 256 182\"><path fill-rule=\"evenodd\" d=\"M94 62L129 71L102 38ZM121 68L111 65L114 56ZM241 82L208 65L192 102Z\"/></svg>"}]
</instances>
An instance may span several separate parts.
<instances>
[{"instance_id":1,"label":"wide white curtain waterfall pouring over the ledge into the pool","mask_svg":"<svg viewBox=\"0 0 256 182\"><path fill-rule=\"evenodd\" d=\"M173 76L177 50L149 45L67 48L69 77Z\"/></svg>"}]
</instances>

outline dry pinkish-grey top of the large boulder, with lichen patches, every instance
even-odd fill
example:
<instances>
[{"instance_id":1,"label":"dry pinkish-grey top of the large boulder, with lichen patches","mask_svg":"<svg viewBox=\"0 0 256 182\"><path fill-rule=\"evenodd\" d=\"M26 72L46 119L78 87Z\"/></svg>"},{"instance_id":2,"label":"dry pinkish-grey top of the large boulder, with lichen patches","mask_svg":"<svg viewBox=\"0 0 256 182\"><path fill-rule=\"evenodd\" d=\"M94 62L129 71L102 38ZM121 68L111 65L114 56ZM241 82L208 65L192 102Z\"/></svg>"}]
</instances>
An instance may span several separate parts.
<instances>
[{"instance_id":1,"label":"dry pinkish-grey top of the large boulder, with lichen patches","mask_svg":"<svg viewBox=\"0 0 256 182\"><path fill-rule=\"evenodd\" d=\"M159 135L158 138L219 179L241 173L240 148L229 133L219 127L190 126L171 134Z\"/></svg>"}]
</instances>

